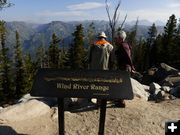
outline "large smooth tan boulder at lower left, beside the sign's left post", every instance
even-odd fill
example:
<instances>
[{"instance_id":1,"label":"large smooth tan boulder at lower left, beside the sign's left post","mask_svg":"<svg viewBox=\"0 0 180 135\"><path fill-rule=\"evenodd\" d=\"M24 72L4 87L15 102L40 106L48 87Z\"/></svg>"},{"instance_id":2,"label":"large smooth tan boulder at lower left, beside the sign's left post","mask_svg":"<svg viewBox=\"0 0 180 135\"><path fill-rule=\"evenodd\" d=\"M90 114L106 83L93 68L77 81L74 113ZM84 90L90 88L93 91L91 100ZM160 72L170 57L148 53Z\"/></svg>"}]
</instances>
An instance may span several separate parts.
<instances>
[{"instance_id":1,"label":"large smooth tan boulder at lower left, beside the sign's left post","mask_svg":"<svg viewBox=\"0 0 180 135\"><path fill-rule=\"evenodd\" d=\"M0 123L22 121L50 112L50 107L36 99L28 100L0 110Z\"/></svg>"}]
</instances>

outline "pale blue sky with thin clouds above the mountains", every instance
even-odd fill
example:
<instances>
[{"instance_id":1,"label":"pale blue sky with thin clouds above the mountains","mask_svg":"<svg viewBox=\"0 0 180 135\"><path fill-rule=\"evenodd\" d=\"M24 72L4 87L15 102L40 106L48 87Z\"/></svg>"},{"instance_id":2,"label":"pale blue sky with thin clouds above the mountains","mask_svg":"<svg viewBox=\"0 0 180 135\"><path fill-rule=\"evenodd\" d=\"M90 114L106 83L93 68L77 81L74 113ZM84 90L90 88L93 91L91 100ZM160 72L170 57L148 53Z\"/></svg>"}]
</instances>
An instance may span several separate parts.
<instances>
[{"instance_id":1,"label":"pale blue sky with thin clouds above the mountains","mask_svg":"<svg viewBox=\"0 0 180 135\"><path fill-rule=\"evenodd\" d=\"M9 0L13 7L0 11L5 21L48 23L51 21L108 20L105 0ZM108 0L110 12L119 0ZM119 20L167 22L172 14L180 18L180 0L121 0ZM112 14L111 14L112 16Z\"/></svg>"}]
</instances>

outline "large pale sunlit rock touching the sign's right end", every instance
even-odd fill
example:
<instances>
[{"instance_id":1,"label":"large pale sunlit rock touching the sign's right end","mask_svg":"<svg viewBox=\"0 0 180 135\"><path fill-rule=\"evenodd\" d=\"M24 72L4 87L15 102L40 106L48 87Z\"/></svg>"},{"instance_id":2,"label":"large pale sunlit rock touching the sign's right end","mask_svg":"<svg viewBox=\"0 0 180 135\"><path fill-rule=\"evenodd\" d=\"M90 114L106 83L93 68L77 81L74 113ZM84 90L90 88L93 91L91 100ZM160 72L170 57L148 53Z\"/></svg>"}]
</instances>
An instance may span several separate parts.
<instances>
[{"instance_id":1,"label":"large pale sunlit rock touching the sign's right end","mask_svg":"<svg viewBox=\"0 0 180 135\"><path fill-rule=\"evenodd\" d=\"M132 84L134 95L141 97L145 100L149 99L150 93L147 92L147 88L149 88L148 86L142 85L141 83L139 83L133 78L131 78L131 84Z\"/></svg>"}]
</instances>

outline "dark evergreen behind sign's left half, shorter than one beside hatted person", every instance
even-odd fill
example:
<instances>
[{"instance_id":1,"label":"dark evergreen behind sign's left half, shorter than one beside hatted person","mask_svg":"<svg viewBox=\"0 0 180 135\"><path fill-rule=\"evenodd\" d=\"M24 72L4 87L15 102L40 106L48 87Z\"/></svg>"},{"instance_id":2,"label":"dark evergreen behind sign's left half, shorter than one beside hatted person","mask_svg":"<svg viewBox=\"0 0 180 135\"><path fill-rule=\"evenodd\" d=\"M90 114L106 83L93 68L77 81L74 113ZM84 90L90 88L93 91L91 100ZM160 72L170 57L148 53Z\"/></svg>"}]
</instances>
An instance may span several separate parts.
<instances>
[{"instance_id":1,"label":"dark evergreen behind sign's left half, shorter than one beside hatted person","mask_svg":"<svg viewBox=\"0 0 180 135\"><path fill-rule=\"evenodd\" d=\"M52 35L52 42L49 46L49 65L51 68L58 68L59 66L59 40L54 33Z\"/></svg>"}]
</instances>

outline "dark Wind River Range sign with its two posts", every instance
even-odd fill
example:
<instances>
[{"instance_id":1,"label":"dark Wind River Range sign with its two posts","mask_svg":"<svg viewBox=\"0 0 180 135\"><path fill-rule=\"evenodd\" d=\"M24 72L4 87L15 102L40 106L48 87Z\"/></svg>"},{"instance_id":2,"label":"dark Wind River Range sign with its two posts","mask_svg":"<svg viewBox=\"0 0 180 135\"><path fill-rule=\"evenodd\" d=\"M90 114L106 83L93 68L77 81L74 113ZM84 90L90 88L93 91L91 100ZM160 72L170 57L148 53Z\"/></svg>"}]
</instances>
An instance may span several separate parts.
<instances>
[{"instance_id":1,"label":"dark Wind River Range sign with its two posts","mask_svg":"<svg viewBox=\"0 0 180 135\"><path fill-rule=\"evenodd\" d=\"M99 135L104 134L106 101L133 99L132 86L126 71L40 69L30 94L58 98L60 135L64 135L64 98L102 99Z\"/></svg>"}]
</instances>

